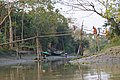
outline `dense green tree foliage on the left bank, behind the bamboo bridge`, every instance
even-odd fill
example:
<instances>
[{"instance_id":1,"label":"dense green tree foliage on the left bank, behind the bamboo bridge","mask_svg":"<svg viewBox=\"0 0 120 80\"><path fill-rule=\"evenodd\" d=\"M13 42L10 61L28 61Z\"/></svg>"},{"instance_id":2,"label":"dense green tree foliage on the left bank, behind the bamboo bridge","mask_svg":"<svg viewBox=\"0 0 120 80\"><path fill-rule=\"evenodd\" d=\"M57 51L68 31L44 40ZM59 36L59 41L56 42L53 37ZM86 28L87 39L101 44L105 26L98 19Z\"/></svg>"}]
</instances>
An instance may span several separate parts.
<instances>
[{"instance_id":1,"label":"dense green tree foliage on the left bank, behind the bamboo bridge","mask_svg":"<svg viewBox=\"0 0 120 80\"><path fill-rule=\"evenodd\" d=\"M9 42L9 18L8 5L9 2L0 2L0 43ZM51 0L16 0L11 4L11 25L13 40L34 37L37 35L57 34L69 31L67 19L59 13L58 9L54 9L54 3ZM7 16L7 17L6 17ZM59 50L69 53L74 51L74 40L72 36L46 37L39 39L43 50L47 50L48 44ZM24 44L35 46L35 40L25 41ZM14 45L15 46L15 45Z\"/></svg>"}]
</instances>

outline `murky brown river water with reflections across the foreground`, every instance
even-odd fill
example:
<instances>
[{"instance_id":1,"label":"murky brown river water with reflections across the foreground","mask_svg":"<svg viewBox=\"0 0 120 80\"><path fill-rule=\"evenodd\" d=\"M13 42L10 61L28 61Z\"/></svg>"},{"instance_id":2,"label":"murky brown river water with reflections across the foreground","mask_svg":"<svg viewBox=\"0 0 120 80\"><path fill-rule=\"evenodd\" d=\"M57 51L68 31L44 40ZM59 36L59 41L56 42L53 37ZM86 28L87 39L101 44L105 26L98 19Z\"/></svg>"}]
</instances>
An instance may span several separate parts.
<instances>
[{"instance_id":1,"label":"murky brown river water with reflections across the foreground","mask_svg":"<svg viewBox=\"0 0 120 80\"><path fill-rule=\"evenodd\" d=\"M0 80L120 80L120 65L17 64L0 67Z\"/></svg>"}]
</instances>

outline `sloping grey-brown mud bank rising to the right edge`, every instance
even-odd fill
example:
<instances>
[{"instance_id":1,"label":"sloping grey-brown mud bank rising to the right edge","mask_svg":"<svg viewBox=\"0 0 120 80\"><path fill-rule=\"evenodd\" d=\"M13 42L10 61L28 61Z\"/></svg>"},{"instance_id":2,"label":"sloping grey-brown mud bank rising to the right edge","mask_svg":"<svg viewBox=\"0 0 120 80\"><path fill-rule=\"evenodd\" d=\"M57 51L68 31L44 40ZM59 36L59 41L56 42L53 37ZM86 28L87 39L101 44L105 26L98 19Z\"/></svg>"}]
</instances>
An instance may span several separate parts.
<instances>
[{"instance_id":1,"label":"sloping grey-brown mud bank rising to the right edge","mask_svg":"<svg viewBox=\"0 0 120 80\"><path fill-rule=\"evenodd\" d=\"M119 64L120 46L114 46L103 53L70 61L71 64Z\"/></svg>"}]
</instances>

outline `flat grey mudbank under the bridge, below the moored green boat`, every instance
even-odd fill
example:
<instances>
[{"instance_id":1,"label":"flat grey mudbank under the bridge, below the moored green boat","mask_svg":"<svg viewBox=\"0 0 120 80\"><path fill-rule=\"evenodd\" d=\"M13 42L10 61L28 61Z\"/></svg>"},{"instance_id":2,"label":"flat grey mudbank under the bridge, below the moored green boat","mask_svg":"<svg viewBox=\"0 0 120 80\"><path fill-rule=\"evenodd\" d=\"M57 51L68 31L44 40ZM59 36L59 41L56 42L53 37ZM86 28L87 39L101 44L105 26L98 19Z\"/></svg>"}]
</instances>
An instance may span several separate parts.
<instances>
[{"instance_id":1,"label":"flat grey mudbank under the bridge, below the moored green boat","mask_svg":"<svg viewBox=\"0 0 120 80\"><path fill-rule=\"evenodd\" d=\"M15 65L15 64L20 64L20 63L34 63L38 60L34 60L36 58L36 55L26 55L26 56L22 56L21 58L17 58L17 57L11 57L11 56L7 56L7 57L0 57L0 66L8 66L8 65ZM60 60L71 60L75 58L75 56L67 56L66 57L62 57L62 56L49 56L46 57L46 59L42 59L41 62L55 62L55 61L60 61Z\"/></svg>"}]
</instances>

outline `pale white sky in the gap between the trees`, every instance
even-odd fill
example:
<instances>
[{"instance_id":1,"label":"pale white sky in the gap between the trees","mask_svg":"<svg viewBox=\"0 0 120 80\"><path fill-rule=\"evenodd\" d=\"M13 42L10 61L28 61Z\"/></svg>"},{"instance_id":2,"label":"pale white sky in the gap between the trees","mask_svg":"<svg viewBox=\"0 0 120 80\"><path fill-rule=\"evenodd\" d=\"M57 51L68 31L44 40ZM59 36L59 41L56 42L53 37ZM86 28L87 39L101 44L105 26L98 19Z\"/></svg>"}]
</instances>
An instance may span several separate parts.
<instances>
[{"instance_id":1,"label":"pale white sky in the gap between the trees","mask_svg":"<svg viewBox=\"0 0 120 80\"><path fill-rule=\"evenodd\" d=\"M68 11L70 7L61 4L56 4L55 7L58 8L60 13L63 14L66 18L73 18L74 24L71 24L71 26L76 25L77 27L81 27L83 22L84 29L92 31L93 26L96 28L103 28L102 26L106 21L98 14L90 11ZM91 33L91 31L87 32Z\"/></svg>"}]
</instances>

